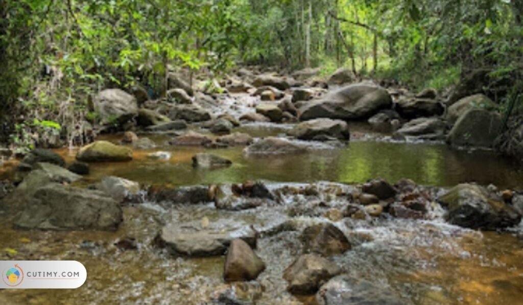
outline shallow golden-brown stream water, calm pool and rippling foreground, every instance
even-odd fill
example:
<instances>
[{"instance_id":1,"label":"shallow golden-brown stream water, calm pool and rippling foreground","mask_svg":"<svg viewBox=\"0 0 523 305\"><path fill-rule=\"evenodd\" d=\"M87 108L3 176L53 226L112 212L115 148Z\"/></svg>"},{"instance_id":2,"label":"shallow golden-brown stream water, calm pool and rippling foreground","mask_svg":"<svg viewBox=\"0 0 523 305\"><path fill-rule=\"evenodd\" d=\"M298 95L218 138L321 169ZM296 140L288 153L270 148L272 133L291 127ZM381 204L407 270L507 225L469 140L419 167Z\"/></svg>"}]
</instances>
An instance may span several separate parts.
<instances>
[{"instance_id":1,"label":"shallow golden-brown stream water, calm pool and rippling foreground","mask_svg":"<svg viewBox=\"0 0 523 305\"><path fill-rule=\"evenodd\" d=\"M248 129L248 128L247 128ZM244 129L245 130L245 129ZM281 130L260 131L279 134ZM151 137L162 144L167 137ZM115 137L106 138L115 140ZM169 161L146 157L170 151ZM228 157L234 164L219 170L191 166L197 152ZM67 161L74 151L60 150ZM344 148L318 148L300 156L252 157L243 148L204 150L161 146L135 151L129 163L93 164L81 184L107 175L142 184L194 185L240 183L263 179L276 183L361 183L374 177L394 182L413 179L418 184L453 186L475 181L505 188L523 188L523 173L509 160L485 151L456 151L444 144L353 141ZM298 199L289 205L299 206ZM229 287L223 276L224 257L171 257L153 245L169 221L200 223L218 219L252 224L256 228L290 219L288 207L260 207L240 212L219 211L211 205L166 208L156 202L124 207L124 222L117 232L40 232L12 228L16 216L3 214L0 223L2 259L70 259L82 262L87 281L76 290L2 290L2 304L201 304ZM298 219L304 225L324 218ZM510 232L477 232L446 224L436 211L427 221L344 219L335 223L348 236L368 235L353 249L334 257L346 273L389 287L406 304L520 304L523 296L523 241L521 227ZM266 262L252 295L256 304L314 303L286 292L283 270L299 254L299 232L259 240L257 253ZM132 237L137 250L114 245ZM353 240L351 240L353 241ZM261 286L263 288L256 288ZM241 294L242 286L236 287ZM259 290L259 291L258 291Z\"/></svg>"}]
</instances>

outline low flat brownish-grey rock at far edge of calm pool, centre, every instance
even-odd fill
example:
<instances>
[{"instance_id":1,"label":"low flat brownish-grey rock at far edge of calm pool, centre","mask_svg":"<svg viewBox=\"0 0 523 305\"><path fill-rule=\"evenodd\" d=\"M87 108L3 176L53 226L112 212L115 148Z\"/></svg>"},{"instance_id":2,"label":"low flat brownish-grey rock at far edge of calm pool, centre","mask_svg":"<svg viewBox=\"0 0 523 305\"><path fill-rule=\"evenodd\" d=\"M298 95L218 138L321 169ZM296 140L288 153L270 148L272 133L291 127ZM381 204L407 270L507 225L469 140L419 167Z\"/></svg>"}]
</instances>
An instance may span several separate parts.
<instances>
[{"instance_id":1,"label":"low flat brownish-grey rock at far edge of calm pool, centre","mask_svg":"<svg viewBox=\"0 0 523 305\"><path fill-rule=\"evenodd\" d=\"M285 155L306 153L304 146L295 144L287 139L269 137L260 140L245 148L245 153L250 155Z\"/></svg>"}]
</instances>

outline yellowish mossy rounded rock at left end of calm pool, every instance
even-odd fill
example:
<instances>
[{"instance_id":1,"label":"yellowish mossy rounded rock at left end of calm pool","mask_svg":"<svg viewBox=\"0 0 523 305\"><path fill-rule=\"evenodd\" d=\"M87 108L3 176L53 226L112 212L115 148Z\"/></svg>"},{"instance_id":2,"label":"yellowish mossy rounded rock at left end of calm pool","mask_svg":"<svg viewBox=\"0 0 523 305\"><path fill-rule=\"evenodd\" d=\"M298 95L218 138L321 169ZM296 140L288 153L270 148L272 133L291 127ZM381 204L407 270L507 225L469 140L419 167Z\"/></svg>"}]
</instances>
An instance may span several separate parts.
<instances>
[{"instance_id":1,"label":"yellowish mossy rounded rock at left end of calm pool","mask_svg":"<svg viewBox=\"0 0 523 305\"><path fill-rule=\"evenodd\" d=\"M96 141L81 148L76 159L85 162L121 162L132 160L132 150L107 141Z\"/></svg>"}]
</instances>

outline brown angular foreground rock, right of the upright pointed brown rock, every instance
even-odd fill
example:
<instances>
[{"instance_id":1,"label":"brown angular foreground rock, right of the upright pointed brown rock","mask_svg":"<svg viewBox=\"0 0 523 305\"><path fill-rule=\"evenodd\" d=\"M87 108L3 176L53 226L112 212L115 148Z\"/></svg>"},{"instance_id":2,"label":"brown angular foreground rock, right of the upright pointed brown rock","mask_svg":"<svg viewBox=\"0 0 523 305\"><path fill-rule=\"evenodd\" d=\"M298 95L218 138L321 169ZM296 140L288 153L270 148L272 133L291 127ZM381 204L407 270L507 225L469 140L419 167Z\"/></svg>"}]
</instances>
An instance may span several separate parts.
<instances>
[{"instance_id":1,"label":"brown angular foreground rock, right of the upright pointed brown rock","mask_svg":"<svg viewBox=\"0 0 523 305\"><path fill-rule=\"evenodd\" d=\"M327 259L304 254L283 272L287 280L287 290L295 295L307 295L316 292L326 281L340 274L342 270Z\"/></svg>"}]
</instances>

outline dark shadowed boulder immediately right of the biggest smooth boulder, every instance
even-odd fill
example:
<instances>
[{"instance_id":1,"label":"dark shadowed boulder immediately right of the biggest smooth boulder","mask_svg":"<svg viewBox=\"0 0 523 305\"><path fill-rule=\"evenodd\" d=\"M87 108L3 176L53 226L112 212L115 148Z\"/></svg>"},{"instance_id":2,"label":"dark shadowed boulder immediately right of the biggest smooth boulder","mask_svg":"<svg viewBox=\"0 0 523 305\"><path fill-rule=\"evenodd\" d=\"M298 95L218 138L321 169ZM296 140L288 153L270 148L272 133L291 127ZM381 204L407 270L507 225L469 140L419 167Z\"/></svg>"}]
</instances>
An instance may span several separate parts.
<instances>
[{"instance_id":1,"label":"dark shadowed boulder immediately right of the biggest smooth boulder","mask_svg":"<svg viewBox=\"0 0 523 305\"><path fill-rule=\"evenodd\" d=\"M406 119L441 116L445 107L438 100L404 97L396 101L396 111Z\"/></svg>"}]
</instances>

